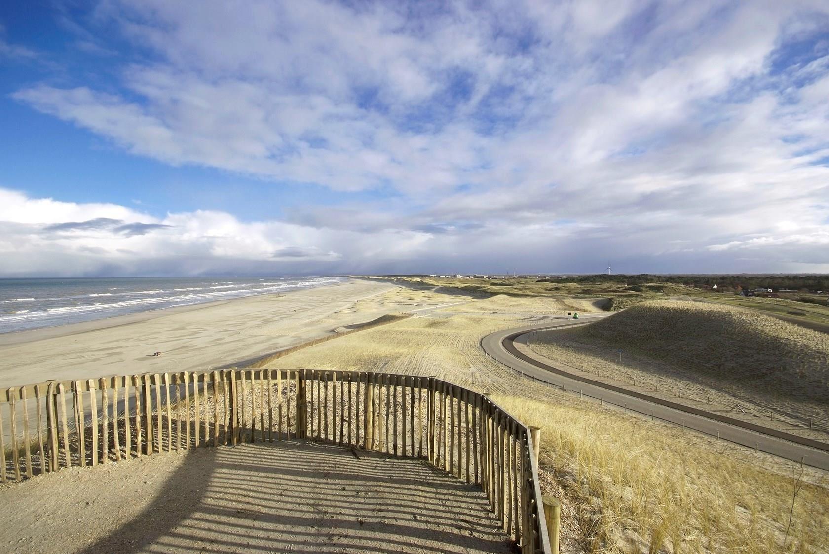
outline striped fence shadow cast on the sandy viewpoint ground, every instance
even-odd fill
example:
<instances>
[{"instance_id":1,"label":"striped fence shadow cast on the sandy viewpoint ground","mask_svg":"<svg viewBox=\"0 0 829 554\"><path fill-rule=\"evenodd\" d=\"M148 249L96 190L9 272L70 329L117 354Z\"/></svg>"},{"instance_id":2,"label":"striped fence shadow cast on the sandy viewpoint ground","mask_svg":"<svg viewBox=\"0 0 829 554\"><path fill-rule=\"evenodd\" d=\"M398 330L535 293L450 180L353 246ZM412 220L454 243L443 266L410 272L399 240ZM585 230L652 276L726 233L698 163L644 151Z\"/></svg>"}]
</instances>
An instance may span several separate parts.
<instances>
[{"instance_id":1,"label":"striped fence shadow cast on the sandy viewpoint ground","mask_svg":"<svg viewBox=\"0 0 829 554\"><path fill-rule=\"evenodd\" d=\"M83 552L511 551L480 487L425 460L305 441L185 455L162 494Z\"/></svg>"}]
</instances>

